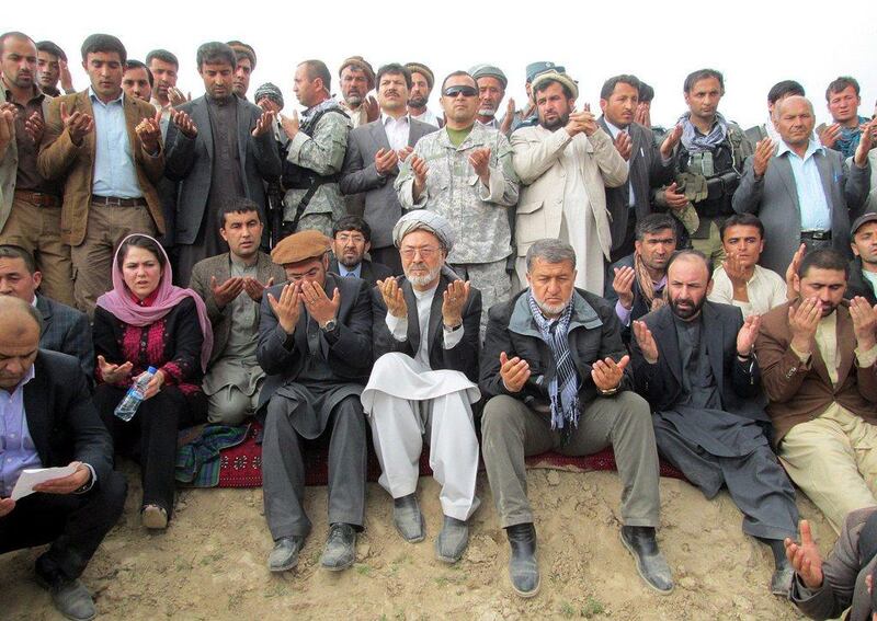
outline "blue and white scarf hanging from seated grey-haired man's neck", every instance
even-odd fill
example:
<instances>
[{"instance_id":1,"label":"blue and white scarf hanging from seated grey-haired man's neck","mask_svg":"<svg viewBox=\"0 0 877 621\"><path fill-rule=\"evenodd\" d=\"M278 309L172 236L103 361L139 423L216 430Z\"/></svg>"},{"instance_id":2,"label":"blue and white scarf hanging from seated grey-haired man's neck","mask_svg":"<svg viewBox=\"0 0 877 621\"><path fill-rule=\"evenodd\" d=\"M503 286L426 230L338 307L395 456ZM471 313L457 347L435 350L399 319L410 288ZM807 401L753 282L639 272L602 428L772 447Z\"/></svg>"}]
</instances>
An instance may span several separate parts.
<instances>
[{"instance_id":1,"label":"blue and white scarf hanging from seated grey-haired man's neck","mask_svg":"<svg viewBox=\"0 0 877 621\"><path fill-rule=\"evenodd\" d=\"M548 384L551 398L551 428L560 429L562 441L569 439L573 427L579 426L579 377L572 354L569 350L569 321L572 318L572 300L560 318L550 321L545 319L536 303L533 292L527 295L529 310L539 329L542 340L551 349L557 364L557 373ZM558 389L559 387L559 389ZM569 425L567 425L569 423Z\"/></svg>"}]
</instances>

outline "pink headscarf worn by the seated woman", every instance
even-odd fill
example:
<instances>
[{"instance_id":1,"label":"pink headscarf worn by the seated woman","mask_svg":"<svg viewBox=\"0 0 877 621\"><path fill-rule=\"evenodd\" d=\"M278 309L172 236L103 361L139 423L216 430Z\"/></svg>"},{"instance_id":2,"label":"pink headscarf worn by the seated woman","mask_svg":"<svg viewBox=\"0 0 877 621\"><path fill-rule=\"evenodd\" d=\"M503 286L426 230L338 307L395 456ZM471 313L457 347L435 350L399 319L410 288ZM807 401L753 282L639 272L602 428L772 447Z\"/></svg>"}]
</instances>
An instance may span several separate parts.
<instances>
[{"instance_id":1,"label":"pink headscarf worn by the seated woman","mask_svg":"<svg viewBox=\"0 0 877 621\"><path fill-rule=\"evenodd\" d=\"M118 253L122 246L132 238L146 238L156 242L161 254L164 256L164 268L161 271L161 279L159 280L158 288L153 292L156 300L151 306L141 307L132 299L132 291L125 285L125 278L122 275L122 269L118 267ZM118 244L116 254L113 257L113 290L107 291L98 298L98 306L102 309L113 313L119 321L128 325L136 325L143 327L151 325L166 314L171 312L173 308L183 301L184 298L190 297L195 300L195 309L198 313L198 324L201 324L201 333L204 335L204 342L201 346L201 368L207 370L207 361L210 359L210 352L213 350L213 327L210 320L207 319L207 308L204 306L204 300L201 299L192 289L183 289L182 287L174 287L171 283L173 280L173 271L171 263L168 260L168 254L155 239L143 233L134 233L122 240Z\"/></svg>"}]
</instances>

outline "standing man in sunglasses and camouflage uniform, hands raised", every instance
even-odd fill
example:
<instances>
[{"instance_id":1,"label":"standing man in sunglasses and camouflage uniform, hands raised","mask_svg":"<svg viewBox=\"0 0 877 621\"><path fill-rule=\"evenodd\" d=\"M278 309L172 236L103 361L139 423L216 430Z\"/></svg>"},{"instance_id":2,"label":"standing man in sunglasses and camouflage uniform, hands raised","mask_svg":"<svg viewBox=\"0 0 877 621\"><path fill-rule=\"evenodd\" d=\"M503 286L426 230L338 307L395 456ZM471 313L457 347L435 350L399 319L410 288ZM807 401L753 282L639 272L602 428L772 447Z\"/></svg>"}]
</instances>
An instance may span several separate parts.
<instances>
[{"instance_id":1,"label":"standing man in sunglasses and camouflage uniform, hands raised","mask_svg":"<svg viewBox=\"0 0 877 621\"><path fill-rule=\"evenodd\" d=\"M512 253L509 207L517 203L517 175L505 136L475 122L478 88L469 73L445 78L441 103L447 124L418 140L395 187L403 209L435 211L454 228L457 242L447 263L481 291L483 336L487 309L511 295L505 263Z\"/></svg>"}]
</instances>

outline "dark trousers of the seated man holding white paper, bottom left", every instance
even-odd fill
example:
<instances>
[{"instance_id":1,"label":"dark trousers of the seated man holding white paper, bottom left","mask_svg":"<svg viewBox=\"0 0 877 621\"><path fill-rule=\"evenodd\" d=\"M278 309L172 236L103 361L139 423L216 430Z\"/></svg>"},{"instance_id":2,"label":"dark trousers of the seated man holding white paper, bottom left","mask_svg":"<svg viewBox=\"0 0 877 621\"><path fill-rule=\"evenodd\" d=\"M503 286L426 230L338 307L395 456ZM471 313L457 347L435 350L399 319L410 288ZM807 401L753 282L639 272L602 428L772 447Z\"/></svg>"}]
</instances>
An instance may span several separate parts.
<instances>
[{"instance_id":1,"label":"dark trousers of the seated man holding white paper, bottom left","mask_svg":"<svg viewBox=\"0 0 877 621\"><path fill-rule=\"evenodd\" d=\"M49 585L73 580L118 520L126 493L125 479L111 472L86 494L31 494L0 518L0 554L52 543L37 574Z\"/></svg>"}]
</instances>

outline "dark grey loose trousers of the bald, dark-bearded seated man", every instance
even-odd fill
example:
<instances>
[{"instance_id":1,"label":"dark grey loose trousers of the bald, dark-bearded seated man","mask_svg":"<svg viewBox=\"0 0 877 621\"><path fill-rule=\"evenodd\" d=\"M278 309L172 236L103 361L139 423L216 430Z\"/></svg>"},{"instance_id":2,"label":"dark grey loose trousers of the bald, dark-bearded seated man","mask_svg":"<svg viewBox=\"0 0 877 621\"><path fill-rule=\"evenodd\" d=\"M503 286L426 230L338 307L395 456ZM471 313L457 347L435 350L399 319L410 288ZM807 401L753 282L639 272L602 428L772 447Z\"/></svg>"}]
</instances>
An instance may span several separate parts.
<instances>
[{"instance_id":1,"label":"dark grey loose trousers of the bald, dark-bearded seated man","mask_svg":"<svg viewBox=\"0 0 877 621\"><path fill-rule=\"evenodd\" d=\"M797 537L798 507L795 488L766 444L742 457L718 457L680 435L676 428L652 416L658 451L707 498L728 486L743 513L743 532L762 539Z\"/></svg>"}]
</instances>

